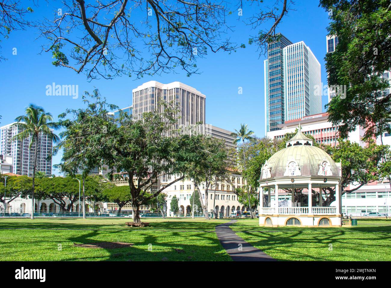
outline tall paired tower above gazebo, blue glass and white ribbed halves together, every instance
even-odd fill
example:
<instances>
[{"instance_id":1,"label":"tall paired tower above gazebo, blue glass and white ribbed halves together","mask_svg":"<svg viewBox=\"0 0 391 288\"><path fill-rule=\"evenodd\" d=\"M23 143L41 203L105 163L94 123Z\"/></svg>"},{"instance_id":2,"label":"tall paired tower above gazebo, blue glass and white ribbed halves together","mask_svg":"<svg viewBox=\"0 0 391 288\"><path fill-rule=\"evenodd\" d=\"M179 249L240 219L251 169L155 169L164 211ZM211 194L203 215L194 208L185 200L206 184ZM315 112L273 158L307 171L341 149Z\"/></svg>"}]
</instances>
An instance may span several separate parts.
<instances>
[{"instance_id":1,"label":"tall paired tower above gazebo, blue glass and white ribbed halves together","mask_svg":"<svg viewBox=\"0 0 391 288\"><path fill-rule=\"evenodd\" d=\"M321 87L320 63L303 41L292 43L277 35L264 61L266 132L322 110L321 96L315 94Z\"/></svg>"}]
</instances>

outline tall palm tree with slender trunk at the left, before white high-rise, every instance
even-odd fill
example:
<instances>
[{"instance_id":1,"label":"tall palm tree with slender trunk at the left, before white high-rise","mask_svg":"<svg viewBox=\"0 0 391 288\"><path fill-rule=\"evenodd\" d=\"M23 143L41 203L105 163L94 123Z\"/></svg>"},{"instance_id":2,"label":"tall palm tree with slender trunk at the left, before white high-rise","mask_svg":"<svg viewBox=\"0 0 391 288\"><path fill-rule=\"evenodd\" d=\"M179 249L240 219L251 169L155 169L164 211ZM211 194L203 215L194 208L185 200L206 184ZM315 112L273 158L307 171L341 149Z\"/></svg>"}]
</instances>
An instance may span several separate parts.
<instances>
[{"instance_id":1,"label":"tall palm tree with slender trunk at the left, before white high-rise","mask_svg":"<svg viewBox=\"0 0 391 288\"><path fill-rule=\"evenodd\" d=\"M12 139L23 141L24 139L30 140L29 149L35 145L34 148L34 165L32 170L32 212L31 219L34 219L34 187L35 187L35 174L37 168L37 158L38 158L38 136L41 133L47 134L48 138L51 139L54 143L59 141L59 137L52 132L50 129L58 129L59 125L52 122L53 116L49 112L45 112L42 107L30 104L26 108L25 115L16 117L15 121L18 123L19 127L23 130L22 132L16 134Z\"/></svg>"}]
</instances>

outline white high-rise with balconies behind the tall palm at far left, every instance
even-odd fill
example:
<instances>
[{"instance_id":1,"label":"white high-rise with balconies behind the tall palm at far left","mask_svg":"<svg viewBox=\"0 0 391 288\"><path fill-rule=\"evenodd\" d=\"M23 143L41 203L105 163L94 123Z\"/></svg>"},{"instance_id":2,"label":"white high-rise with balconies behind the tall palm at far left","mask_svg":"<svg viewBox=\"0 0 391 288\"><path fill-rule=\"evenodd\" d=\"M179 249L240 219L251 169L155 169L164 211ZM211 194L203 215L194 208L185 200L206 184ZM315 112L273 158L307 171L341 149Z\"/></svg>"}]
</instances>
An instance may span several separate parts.
<instances>
[{"instance_id":1,"label":"white high-rise with balconies behind the tall palm at far left","mask_svg":"<svg viewBox=\"0 0 391 288\"><path fill-rule=\"evenodd\" d=\"M30 137L21 140L12 140L12 137L23 131L18 122L0 127L0 154L13 157L13 173L32 176L34 167L35 145L29 149ZM46 175L52 174L52 160L47 156L52 154L52 139L41 133L38 137L37 170Z\"/></svg>"}]
</instances>

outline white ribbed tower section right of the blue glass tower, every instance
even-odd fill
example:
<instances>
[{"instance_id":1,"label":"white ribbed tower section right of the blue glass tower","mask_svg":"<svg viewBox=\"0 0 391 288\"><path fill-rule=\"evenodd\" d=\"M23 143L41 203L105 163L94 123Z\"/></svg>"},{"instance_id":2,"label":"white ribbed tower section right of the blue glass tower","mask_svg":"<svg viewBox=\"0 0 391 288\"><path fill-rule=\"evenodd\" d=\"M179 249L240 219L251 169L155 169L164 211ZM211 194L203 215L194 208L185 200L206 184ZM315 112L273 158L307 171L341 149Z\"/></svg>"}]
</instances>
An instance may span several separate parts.
<instances>
[{"instance_id":1,"label":"white ribbed tower section right of the blue glass tower","mask_svg":"<svg viewBox=\"0 0 391 288\"><path fill-rule=\"evenodd\" d=\"M285 121L322 112L320 63L303 41L283 50Z\"/></svg>"}]
</instances>

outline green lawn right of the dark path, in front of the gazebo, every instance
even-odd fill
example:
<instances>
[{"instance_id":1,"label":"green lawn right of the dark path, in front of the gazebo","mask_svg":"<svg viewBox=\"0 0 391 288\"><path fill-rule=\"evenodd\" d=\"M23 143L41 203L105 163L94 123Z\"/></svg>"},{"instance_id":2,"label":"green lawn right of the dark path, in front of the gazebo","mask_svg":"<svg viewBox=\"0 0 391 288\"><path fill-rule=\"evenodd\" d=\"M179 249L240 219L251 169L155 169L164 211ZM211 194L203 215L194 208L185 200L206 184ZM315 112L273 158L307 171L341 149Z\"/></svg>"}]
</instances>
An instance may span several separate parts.
<instances>
[{"instance_id":1,"label":"green lawn right of the dark path, in front of the gazebo","mask_svg":"<svg viewBox=\"0 0 391 288\"><path fill-rule=\"evenodd\" d=\"M254 219L231 228L277 260L391 261L390 219L358 219L343 228L259 227Z\"/></svg>"}]
</instances>

